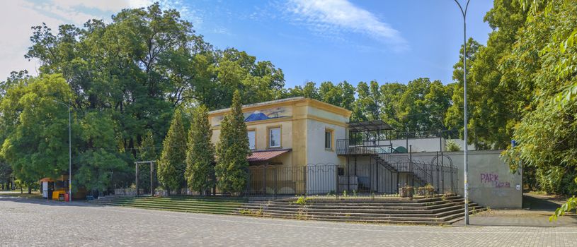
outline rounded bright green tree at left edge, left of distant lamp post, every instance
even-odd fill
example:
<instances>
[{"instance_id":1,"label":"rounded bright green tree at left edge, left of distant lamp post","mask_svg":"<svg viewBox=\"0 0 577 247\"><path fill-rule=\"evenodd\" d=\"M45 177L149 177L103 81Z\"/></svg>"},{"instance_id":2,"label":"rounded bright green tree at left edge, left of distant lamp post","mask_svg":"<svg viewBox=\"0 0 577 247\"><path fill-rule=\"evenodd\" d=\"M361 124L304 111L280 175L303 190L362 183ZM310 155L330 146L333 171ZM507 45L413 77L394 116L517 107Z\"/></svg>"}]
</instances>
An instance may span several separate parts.
<instances>
[{"instance_id":1,"label":"rounded bright green tree at left edge, left of distant lamp post","mask_svg":"<svg viewBox=\"0 0 577 247\"><path fill-rule=\"evenodd\" d=\"M68 109L54 100L71 99L62 75L26 78L7 89L0 103L1 155L23 183L68 171ZM73 124L73 132L79 131Z\"/></svg>"}]
</instances>

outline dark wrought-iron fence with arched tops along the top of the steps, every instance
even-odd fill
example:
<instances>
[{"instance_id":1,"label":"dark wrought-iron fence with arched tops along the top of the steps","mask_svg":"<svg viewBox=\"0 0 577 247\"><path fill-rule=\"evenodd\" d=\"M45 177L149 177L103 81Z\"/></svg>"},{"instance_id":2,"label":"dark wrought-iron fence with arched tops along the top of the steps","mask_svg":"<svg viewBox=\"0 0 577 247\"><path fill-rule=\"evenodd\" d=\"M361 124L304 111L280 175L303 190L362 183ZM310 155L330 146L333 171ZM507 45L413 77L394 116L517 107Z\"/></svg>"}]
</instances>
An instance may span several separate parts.
<instances>
[{"instance_id":1,"label":"dark wrought-iron fence with arched tops along the top of the steps","mask_svg":"<svg viewBox=\"0 0 577 247\"><path fill-rule=\"evenodd\" d=\"M250 166L246 188L241 194L399 196L401 188L411 187L414 193L418 193L418 188L425 185L432 186L435 194L456 191L457 168L450 165L449 157L441 154L429 163L415 162L408 155L379 157L372 154L354 158L354 161L349 160L346 164ZM152 175L153 181L156 181L156 173ZM154 192L155 195L167 195L159 188ZM139 189L139 194L142 193L148 192ZM200 193L185 185L179 191L171 191L171 194L230 195L220 191L217 186Z\"/></svg>"}]
</instances>

